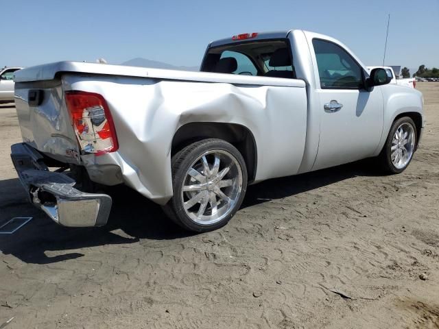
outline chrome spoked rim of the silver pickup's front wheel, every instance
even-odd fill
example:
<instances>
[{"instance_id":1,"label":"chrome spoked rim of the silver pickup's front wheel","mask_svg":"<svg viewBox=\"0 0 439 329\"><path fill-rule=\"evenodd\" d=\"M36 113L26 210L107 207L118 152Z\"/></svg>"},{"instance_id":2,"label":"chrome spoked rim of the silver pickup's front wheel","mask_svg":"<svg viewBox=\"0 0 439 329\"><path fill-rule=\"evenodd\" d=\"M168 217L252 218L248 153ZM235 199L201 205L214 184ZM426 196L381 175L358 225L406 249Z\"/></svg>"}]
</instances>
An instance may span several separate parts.
<instances>
[{"instance_id":1,"label":"chrome spoked rim of the silver pickup's front wheel","mask_svg":"<svg viewBox=\"0 0 439 329\"><path fill-rule=\"evenodd\" d=\"M414 128L410 123L401 124L395 131L390 148L390 158L396 169L407 166L414 152Z\"/></svg>"}]
</instances>

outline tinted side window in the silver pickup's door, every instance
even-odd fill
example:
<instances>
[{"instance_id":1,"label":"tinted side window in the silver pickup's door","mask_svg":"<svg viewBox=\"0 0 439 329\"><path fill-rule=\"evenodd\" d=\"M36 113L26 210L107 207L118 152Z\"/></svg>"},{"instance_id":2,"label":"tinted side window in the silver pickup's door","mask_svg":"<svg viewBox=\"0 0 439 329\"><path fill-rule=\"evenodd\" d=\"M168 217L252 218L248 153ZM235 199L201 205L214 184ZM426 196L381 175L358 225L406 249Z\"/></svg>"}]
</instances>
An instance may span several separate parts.
<instances>
[{"instance_id":1,"label":"tinted side window in the silver pickup's door","mask_svg":"<svg viewBox=\"0 0 439 329\"><path fill-rule=\"evenodd\" d=\"M313 47L322 89L359 89L363 86L363 69L346 50L319 39L313 40Z\"/></svg>"}]
</instances>

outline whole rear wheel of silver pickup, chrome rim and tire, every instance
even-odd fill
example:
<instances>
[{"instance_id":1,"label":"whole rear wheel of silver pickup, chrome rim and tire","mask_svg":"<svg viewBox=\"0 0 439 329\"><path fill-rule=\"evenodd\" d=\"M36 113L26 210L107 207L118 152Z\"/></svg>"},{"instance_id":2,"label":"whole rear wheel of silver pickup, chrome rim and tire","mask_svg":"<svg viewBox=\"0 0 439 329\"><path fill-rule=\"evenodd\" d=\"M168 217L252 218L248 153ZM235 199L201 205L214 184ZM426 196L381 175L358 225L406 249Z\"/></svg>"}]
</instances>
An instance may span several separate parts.
<instances>
[{"instance_id":1,"label":"whole rear wheel of silver pickup, chrome rim and tire","mask_svg":"<svg viewBox=\"0 0 439 329\"><path fill-rule=\"evenodd\" d=\"M164 210L182 228L215 230L241 206L246 163L230 143L204 139L188 145L172 157L171 167L174 195Z\"/></svg>"}]
</instances>

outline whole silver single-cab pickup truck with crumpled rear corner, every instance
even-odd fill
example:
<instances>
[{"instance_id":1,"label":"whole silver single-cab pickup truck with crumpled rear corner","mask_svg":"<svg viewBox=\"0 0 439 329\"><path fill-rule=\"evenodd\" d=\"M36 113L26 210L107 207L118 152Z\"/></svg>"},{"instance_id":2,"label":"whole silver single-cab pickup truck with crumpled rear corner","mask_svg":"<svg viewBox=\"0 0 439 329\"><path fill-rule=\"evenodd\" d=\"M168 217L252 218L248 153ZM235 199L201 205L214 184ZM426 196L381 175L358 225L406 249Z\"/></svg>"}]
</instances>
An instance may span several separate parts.
<instances>
[{"instance_id":1,"label":"whole silver single-cab pickup truck with crumpled rear corner","mask_svg":"<svg viewBox=\"0 0 439 329\"><path fill-rule=\"evenodd\" d=\"M204 232L233 217L248 184L370 157L401 173L423 131L420 92L322 34L211 42L201 71L18 71L11 156L30 202L63 226L102 226L111 198L93 186L126 184Z\"/></svg>"}]
</instances>

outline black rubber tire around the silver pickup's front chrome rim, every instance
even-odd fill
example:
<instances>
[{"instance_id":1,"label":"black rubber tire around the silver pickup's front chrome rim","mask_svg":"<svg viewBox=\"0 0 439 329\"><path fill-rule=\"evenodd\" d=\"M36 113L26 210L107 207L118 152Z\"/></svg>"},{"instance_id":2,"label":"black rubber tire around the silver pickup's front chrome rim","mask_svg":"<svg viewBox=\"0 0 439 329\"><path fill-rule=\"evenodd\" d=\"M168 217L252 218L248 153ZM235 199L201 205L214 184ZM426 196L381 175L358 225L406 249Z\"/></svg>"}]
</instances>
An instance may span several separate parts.
<instances>
[{"instance_id":1,"label":"black rubber tire around the silver pickup's front chrome rim","mask_svg":"<svg viewBox=\"0 0 439 329\"><path fill-rule=\"evenodd\" d=\"M411 125L414 131L414 149L412 151L412 156L410 158L410 160L407 162L407 164L405 164L404 167L401 168L397 168L395 167L395 165L392 162L392 141L394 138L394 134L396 132L396 130L398 129L398 127L400 127L401 125L403 125L404 123ZM394 174L394 173L402 173L410 164L410 162L412 162L412 158L414 156L414 150L416 149L416 144L418 143L417 141L417 133L416 133L416 125L414 124L414 121L412 120L412 118L410 117L401 117L397 120L395 120L392 123L392 127L390 127L390 131L387 137L387 140L385 141L385 144L383 146L383 149L381 149L381 152L378 156L378 160L379 160L379 164L381 169L385 172L385 173L390 173L390 174Z\"/></svg>"}]
</instances>

